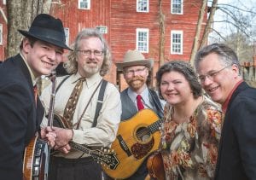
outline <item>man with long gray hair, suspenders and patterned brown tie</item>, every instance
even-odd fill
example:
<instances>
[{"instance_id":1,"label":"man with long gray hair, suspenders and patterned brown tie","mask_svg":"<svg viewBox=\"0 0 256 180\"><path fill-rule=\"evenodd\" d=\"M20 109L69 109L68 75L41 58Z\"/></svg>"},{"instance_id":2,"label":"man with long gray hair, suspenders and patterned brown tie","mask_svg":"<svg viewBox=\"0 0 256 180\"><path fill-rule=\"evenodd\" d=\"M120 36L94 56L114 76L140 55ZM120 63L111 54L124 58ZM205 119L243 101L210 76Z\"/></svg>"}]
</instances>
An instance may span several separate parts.
<instances>
[{"instance_id":1,"label":"man with long gray hair, suspenders and patterned brown tie","mask_svg":"<svg viewBox=\"0 0 256 180\"><path fill-rule=\"evenodd\" d=\"M50 157L49 180L102 179L101 165L93 160L96 154L83 153L69 144L94 149L109 147L115 139L121 114L119 90L102 78L108 73L111 61L108 44L100 32L96 29L79 32L73 52L64 64L71 75L59 77L56 82L54 113L62 117L57 122L65 128L53 127L58 151ZM50 92L49 86L42 94L46 109Z\"/></svg>"}]
</instances>

